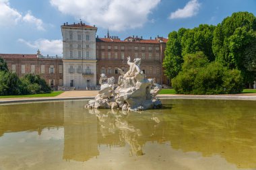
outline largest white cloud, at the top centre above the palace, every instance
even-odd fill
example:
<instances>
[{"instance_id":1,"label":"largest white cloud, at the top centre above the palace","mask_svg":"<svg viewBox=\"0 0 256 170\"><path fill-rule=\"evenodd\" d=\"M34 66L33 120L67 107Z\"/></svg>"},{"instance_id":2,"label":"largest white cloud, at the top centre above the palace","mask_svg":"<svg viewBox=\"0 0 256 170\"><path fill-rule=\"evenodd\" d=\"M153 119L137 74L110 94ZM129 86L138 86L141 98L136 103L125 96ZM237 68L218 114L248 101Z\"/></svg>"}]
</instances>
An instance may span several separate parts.
<instances>
[{"instance_id":1,"label":"largest white cloud, at the top centre above the palace","mask_svg":"<svg viewBox=\"0 0 256 170\"><path fill-rule=\"evenodd\" d=\"M51 0L62 13L116 31L142 27L158 3L160 0Z\"/></svg>"}]
</instances>

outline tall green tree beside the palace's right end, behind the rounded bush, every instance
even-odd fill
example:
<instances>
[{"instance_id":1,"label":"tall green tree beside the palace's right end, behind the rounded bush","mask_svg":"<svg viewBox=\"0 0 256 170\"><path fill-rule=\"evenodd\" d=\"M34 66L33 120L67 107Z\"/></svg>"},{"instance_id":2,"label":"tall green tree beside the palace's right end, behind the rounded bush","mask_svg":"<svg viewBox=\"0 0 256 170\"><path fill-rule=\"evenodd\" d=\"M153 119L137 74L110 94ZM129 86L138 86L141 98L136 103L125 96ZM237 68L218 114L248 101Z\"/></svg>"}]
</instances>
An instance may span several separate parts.
<instances>
[{"instance_id":1,"label":"tall green tree beside the palace's right end, behind the rounded bush","mask_svg":"<svg viewBox=\"0 0 256 170\"><path fill-rule=\"evenodd\" d=\"M181 28L170 32L166 44L163 66L168 78L176 77L181 71L181 64L186 54L202 51L210 61L215 59L212 52L214 26L199 25L198 28Z\"/></svg>"}]
</instances>

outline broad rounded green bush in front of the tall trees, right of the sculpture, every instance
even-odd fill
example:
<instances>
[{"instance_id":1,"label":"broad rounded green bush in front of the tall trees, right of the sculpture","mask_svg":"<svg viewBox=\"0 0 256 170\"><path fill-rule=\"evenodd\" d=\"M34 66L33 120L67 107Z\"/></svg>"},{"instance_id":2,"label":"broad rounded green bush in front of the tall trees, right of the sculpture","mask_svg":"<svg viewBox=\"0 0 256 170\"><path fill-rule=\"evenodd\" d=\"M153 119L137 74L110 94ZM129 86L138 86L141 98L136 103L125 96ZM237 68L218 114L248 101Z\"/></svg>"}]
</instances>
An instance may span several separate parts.
<instances>
[{"instance_id":1,"label":"broad rounded green bush in front of the tall trees, right of the sculpture","mask_svg":"<svg viewBox=\"0 0 256 170\"><path fill-rule=\"evenodd\" d=\"M187 54L182 71L172 79L177 93L220 94L239 93L243 89L241 71L230 70L219 62L208 62L203 52Z\"/></svg>"}]
</instances>

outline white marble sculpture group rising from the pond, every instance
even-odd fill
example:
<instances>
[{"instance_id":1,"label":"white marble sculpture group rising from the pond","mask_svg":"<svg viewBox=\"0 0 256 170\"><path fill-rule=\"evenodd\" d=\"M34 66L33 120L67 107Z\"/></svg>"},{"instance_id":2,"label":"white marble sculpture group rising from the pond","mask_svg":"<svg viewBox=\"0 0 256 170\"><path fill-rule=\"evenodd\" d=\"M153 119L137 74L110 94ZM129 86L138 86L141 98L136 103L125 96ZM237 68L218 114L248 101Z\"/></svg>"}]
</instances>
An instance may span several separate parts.
<instances>
[{"instance_id":1,"label":"white marble sculpture group rising from the pond","mask_svg":"<svg viewBox=\"0 0 256 170\"><path fill-rule=\"evenodd\" d=\"M118 83L115 84L115 78L107 78L106 75L100 75L100 91L95 99L90 100L85 108L111 108L119 110L147 110L162 107L156 95L162 89L162 86L155 83L154 79L146 79L143 71L139 68L141 59L127 58L129 71L121 74Z\"/></svg>"}]
</instances>

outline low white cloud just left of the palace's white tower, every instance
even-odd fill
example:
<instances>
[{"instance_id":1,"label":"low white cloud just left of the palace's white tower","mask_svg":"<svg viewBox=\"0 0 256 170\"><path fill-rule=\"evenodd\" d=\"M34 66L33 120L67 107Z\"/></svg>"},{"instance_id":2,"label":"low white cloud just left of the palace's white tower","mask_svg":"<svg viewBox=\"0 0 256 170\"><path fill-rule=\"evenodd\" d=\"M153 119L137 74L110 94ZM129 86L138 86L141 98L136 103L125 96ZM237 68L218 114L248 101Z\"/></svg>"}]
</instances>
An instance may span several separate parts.
<instances>
[{"instance_id":1,"label":"low white cloud just left of the palace's white tower","mask_svg":"<svg viewBox=\"0 0 256 170\"><path fill-rule=\"evenodd\" d=\"M57 54L62 56L62 40L38 39L34 42L29 42L20 38L18 42L22 42L35 50L40 49L43 55L50 54L51 56L54 56Z\"/></svg>"}]
</instances>

